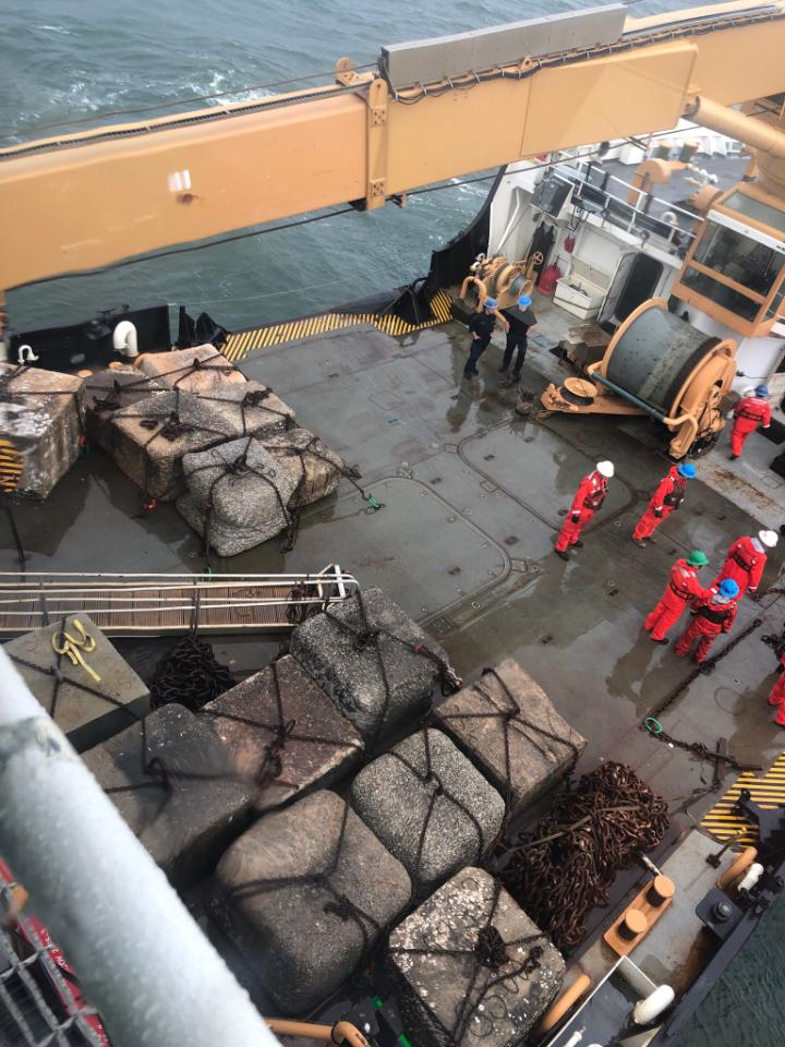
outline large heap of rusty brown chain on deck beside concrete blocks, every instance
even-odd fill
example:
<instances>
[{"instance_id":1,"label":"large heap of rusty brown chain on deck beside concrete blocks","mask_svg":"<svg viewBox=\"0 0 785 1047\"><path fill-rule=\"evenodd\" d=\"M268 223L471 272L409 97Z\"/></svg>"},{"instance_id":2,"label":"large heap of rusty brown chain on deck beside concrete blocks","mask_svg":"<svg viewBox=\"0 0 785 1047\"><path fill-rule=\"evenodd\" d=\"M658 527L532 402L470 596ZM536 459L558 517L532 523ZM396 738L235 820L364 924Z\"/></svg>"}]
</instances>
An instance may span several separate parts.
<instances>
[{"instance_id":1,"label":"large heap of rusty brown chain on deck beside concrete blocks","mask_svg":"<svg viewBox=\"0 0 785 1047\"><path fill-rule=\"evenodd\" d=\"M665 801L626 765L603 763L510 850L502 880L558 949L573 949L591 911L607 904L619 869L656 846L667 828Z\"/></svg>"}]
</instances>

